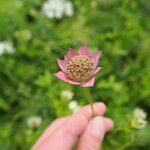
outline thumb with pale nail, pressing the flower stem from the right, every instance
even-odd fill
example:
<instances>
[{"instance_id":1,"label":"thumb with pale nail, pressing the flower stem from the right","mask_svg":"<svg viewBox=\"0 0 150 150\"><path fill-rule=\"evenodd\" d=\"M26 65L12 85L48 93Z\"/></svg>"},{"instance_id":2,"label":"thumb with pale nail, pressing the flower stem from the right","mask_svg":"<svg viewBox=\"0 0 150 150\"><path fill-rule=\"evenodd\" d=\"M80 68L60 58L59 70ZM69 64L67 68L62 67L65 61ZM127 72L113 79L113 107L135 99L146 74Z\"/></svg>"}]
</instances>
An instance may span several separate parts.
<instances>
[{"instance_id":1,"label":"thumb with pale nail, pressing the flower stem from the right","mask_svg":"<svg viewBox=\"0 0 150 150\"><path fill-rule=\"evenodd\" d=\"M111 119L95 117L92 119L78 143L78 150L99 150L106 131L113 127Z\"/></svg>"}]
</instances>

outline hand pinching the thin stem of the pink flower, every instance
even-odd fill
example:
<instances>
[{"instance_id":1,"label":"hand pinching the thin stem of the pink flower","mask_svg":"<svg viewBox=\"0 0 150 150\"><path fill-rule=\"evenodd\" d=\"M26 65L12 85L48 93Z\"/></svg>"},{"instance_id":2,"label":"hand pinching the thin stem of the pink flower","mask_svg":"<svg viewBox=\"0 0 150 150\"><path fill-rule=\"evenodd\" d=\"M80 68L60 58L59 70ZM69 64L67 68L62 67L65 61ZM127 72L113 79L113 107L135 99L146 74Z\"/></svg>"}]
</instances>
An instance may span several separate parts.
<instances>
[{"instance_id":1,"label":"hand pinching the thin stem of the pink flower","mask_svg":"<svg viewBox=\"0 0 150 150\"><path fill-rule=\"evenodd\" d=\"M71 116L56 119L40 136L31 150L77 150L101 149L104 135L113 128L111 119L103 117L106 106L95 103L93 118L89 105Z\"/></svg>"}]
</instances>

